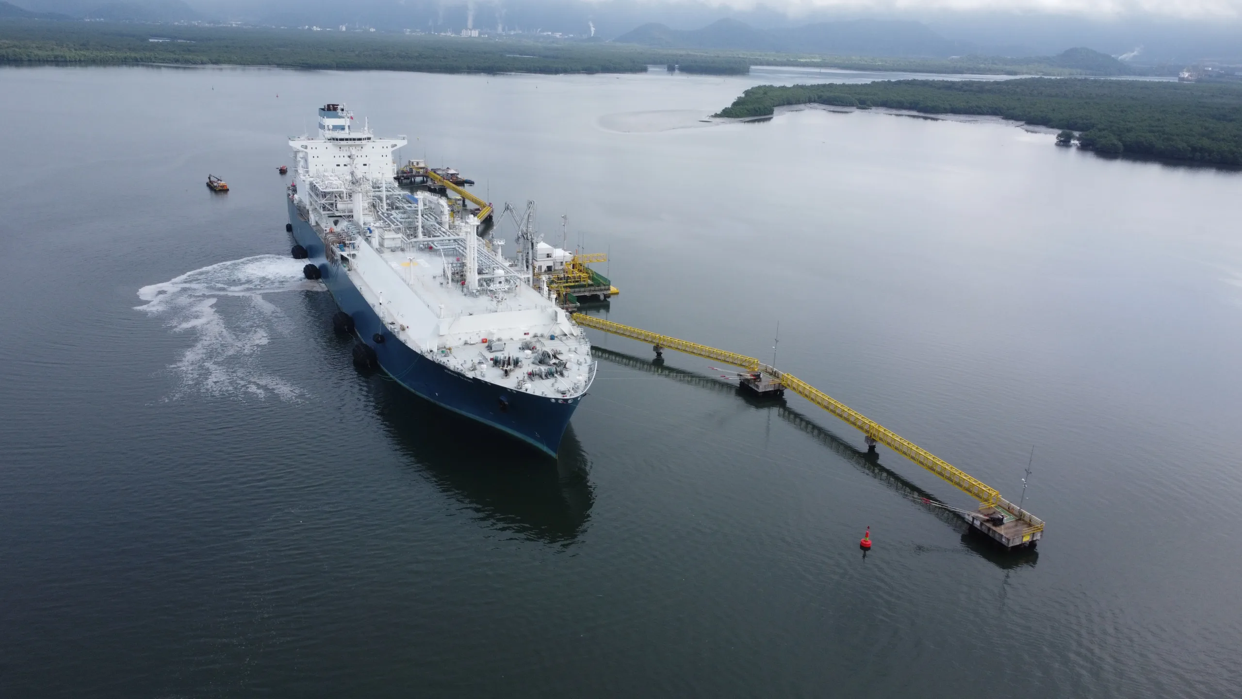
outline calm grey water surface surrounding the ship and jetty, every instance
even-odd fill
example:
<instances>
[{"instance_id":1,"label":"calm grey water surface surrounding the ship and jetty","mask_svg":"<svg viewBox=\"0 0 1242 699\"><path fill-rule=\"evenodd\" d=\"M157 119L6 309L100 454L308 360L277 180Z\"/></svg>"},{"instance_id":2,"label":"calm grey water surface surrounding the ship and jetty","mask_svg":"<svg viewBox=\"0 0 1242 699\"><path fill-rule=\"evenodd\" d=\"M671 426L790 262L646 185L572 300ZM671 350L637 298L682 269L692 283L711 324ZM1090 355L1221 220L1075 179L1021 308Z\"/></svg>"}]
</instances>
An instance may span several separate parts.
<instances>
[{"instance_id":1,"label":"calm grey water surface surrounding the ship and jetty","mask_svg":"<svg viewBox=\"0 0 1242 699\"><path fill-rule=\"evenodd\" d=\"M699 121L804 80L0 70L2 694L1237 695L1242 175ZM1033 445L1043 545L620 338L559 461L359 374L276 173L329 101L568 215L612 320L765 358L779 322L779 366L1011 499Z\"/></svg>"}]
</instances>

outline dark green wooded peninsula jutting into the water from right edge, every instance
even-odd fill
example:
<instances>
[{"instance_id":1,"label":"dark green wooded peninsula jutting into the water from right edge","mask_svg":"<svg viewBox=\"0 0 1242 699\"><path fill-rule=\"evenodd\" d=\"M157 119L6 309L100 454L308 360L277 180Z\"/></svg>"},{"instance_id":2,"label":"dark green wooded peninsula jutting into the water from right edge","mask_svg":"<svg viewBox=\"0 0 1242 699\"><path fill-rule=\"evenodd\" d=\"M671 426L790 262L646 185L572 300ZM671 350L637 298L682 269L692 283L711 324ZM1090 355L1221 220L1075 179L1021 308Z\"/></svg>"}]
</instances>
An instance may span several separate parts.
<instances>
[{"instance_id":1,"label":"dark green wooded peninsula jutting into the water from right edge","mask_svg":"<svg viewBox=\"0 0 1242 699\"><path fill-rule=\"evenodd\" d=\"M1042 77L763 85L717 116L759 117L810 103L990 114L1081 132L1079 144L1102 153L1242 165L1242 86L1236 85Z\"/></svg>"}]
</instances>

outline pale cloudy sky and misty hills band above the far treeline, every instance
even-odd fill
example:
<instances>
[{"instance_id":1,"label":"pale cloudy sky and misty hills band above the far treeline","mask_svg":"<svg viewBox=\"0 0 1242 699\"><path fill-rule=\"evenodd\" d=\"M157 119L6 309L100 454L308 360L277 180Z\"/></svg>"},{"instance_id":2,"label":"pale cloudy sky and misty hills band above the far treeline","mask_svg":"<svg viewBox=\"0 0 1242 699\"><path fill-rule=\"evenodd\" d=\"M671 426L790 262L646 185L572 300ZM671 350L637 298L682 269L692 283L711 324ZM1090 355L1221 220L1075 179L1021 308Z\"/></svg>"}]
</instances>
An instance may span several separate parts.
<instances>
[{"instance_id":1,"label":"pale cloudy sky and misty hills band above the far treeline","mask_svg":"<svg viewBox=\"0 0 1242 699\"><path fill-rule=\"evenodd\" d=\"M349 25L430 32L474 27L484 32L558 32L575 39L625 37L651 46L732 44L756 51L891 56L1048 56L1089 46L1145 63L1242 61L1242 0L909 0L900 10L888 0L734 0L737 6L699 0L9 1L36 12L130 21ZM719 20L740 25L715 24ZM857 20L867 22L843 24Z\"/></svg>"}]
</instances>

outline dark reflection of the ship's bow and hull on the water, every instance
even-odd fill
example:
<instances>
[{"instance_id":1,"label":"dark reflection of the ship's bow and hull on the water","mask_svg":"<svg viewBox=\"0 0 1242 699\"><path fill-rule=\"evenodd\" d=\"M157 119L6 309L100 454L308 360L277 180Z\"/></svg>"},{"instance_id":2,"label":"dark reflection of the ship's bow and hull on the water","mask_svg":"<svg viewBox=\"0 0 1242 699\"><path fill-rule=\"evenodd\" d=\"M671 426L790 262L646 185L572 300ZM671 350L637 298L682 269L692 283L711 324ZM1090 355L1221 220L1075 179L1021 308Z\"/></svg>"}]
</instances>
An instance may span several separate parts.
<instances>
[{"instance_id":1,"label":"dark reflection of the ship's bow and hull on the water","mask_svg":"<svg viewBox=\"0 0 1242 699\"><path fill-rule=\"evenodd\" d=\"M590 519L590 460L571 424L560 456L440 408L383 373L374 405L396 447L443 493L501 531L569 546Z\"/></svg>"}]
</instances>

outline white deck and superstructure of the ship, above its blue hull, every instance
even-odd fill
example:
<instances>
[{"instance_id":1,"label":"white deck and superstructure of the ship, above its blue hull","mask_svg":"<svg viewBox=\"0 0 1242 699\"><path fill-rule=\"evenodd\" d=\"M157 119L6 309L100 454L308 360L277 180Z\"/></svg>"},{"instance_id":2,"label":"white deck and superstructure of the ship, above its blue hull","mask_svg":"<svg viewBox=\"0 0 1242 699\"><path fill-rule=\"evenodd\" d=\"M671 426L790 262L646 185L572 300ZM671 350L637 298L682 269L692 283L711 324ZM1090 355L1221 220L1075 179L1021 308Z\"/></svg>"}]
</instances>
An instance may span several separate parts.
<instances>
[{"instance_id":1,"label":"white deck and superstructure of the ship, above its blue hull","mask_svg":"<svg viewBox=\"0 0 1242 699\"><path fill-rule=\"evenodd\" d=\"M554 402L580 397L595 374L585 335L545 285L532 287L529 266L479 239L479 221L462 204L397 187L394 150L405 144L405 137L378 138L366 126L358 128L343 104L319 109L317 137L289 138L291 201L322 241L324 280L348 280L384 328L366 336L359 323L360 338L399 381L401 372L421 369L388 366L385 342L497 388ZM348 289L329 289L342 310L356 316L343 301ZM427 397L471 412L436 393ZM507 410L503 394L498 400Z\"/></svg>"}]
</instances>

